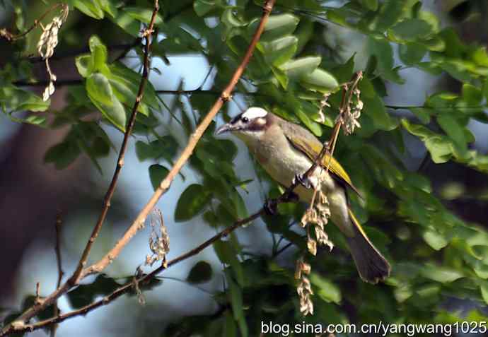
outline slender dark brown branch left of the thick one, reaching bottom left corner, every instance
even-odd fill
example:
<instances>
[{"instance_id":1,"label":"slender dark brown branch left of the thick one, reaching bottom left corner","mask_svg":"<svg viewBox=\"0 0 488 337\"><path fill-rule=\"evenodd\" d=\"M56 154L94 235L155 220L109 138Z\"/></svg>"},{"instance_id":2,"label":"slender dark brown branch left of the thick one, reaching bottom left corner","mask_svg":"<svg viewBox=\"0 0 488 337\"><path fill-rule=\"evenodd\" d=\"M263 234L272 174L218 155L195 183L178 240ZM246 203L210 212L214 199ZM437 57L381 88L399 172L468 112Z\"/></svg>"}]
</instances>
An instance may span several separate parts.
<instances>
[{"instance_id":1,"label":"slender dark brown branch left of the thick one, reaching bottom left corner","mask_svg":"<svg viewBox=\"0 0 488 337\"><path fill-rule=\"evenodd\" d=\"M120 170L122 170L122 167L124 165L124 155L125 155L125 150L127 149L129 136L132 132L132 129L134 128L134 124L136 121L137 108L139 107L139 104L142 100L142 97L144 95L144 88L146 86L146 82L148 81L149 69L150 69L149 52L151 47L151 35L153 33L154 22L156 20L156 14L158 13L158 10L159 10L158 0L155 0L153 14L151 16L151 22L149 23L149 27L144 31L144 38L146 39L146 45L144 47L144 69L141 77L141 83L139 84L139 92L137 93L136 101L134 102L134 107L132 108L132 114L131 117L129 118L129 123L127 124L127 129L124 133L124 140L122 141L122 146L120 148L119 157L117 159L117 166L115 167L115 172L112 177L112 182L110 182L110 186L108 188L107 194L105 194L105 198L103 200L102 211L100 212L100 216L98 217L97 223L93 228L93 232L91 233L90 239L88 240L86 247L83 250L83 254L81 255L81 259L79 260L79 264L76 268L76 271L74 271L73 275L69 278L69 280L66 281L66 283L64 283L63 285L59 285L58 288L54 290L54 292L52 292L51 295L46 297L41 304L34 305L33 307L30 307L25 312L23 312L23 314L21 314L21 316L18 317L18 319L16 319L15 321L16 324L19 323L23 324L23 322L28 321L28 319L34 317L42 309L45 309L45 307L52 305L52 303L54 303L58 297L63 295L74 285L78 284L81 278L83 278L83 276L81 276L81 272L83 271L83 268L86 265L86 260L88 259L88 254L90 253L91 247L93 246L93 242L95 242L96 237L98 237L98 234L100 233L100 229L102 228L103 222L108 213L108 208L110 208L110 200L112 199L112 196L115 192L115 187L117 185L117 180L120 175ZM2 329L2 331L0 332L0 336L4 336L6 333L8 333L7 331L12 331L11 330L12 326L13 326L12 324L5 326L4 329Z\"/></svg>"}]
</instances>

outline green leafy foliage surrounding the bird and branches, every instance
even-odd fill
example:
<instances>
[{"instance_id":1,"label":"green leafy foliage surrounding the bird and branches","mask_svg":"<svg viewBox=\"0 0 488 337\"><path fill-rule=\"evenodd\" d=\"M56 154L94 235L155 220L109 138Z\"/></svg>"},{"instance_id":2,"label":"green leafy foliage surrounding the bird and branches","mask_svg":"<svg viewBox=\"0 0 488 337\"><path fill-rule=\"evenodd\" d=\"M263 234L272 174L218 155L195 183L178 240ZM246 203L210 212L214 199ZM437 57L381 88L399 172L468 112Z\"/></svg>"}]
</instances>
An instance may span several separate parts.
<instances>
[{"instance_id":1,"label":"green leafy foliage surrounding the bird and branches","mask_svg":"<svg viewBox=\"0 0 488 337\"><path fill-rule=\"evenodd\" d=\"M45 1L51 4L52 1ZM73 20L108 21L124 32L125 41L139 36L141 25L149 22L153 1L72 0ZM212 90L196 90L185 104L175 100L172 107L162 104L155 88L148 83L139 105L135 133L146 140L136 142L139 160L149 160L149 177L156 189L178 153L174 132L192 133L195 123L206 114L216 93L223 88L248 47L260 20L263 1L181 0L159 1L161 11L156 27L163 38L155 41L153 57L199 54L216 70ZM364 112L361 129L340 137L337 158L349 171L363 199L351 196L352 205L378 248L388 256L393 273L384 284L362 283L344 239L328 226L337 248L310 259L310 277L315 296L315 314L303 318L298 310L294 271L277 264L276 256L248 256L236 235L214 244L224 266L225 291L215 294L220 305L208 316L187 317L168 326L163 336L258 336L261 321L290 324L310 323L452 323L456 320L488 321L488 232L467 223L448 211L437 196L429 178L406 169L405 138L412 135L424 144L431 160L441 165L457 162L488 173L488 155L472 149L475 136L467 128L472 120L488 123L488 54L482 45L467 45L453 28L445 28L434 13L424 10L417 0L352 0L327 6L327 1L278 0L261 41L239 81L236 92L249 104L259 105L294 122L300 122L321 139L330 135L340 102L340 83L349 81L355 55L339 59L328 49L320 34L330 34L327 24L361 32L368 57L361 99ZM23 30L23 1L4 1L16 8L13 29ZM74 25L62 28L69 36ZM115 29L115 28L114 28ZM319 35L319 36L318 36ZM62 169L81 153L98 166L97 158L108 155L112 144L100 124L124 131L127 115L140 81L137 71L120 61L109 60L110 45L103 32L88 41L89 53L76 56L82 85L69 88L69 100L62 111L50 108L32 92L16 86L16 81L35 81L33 64L13 57L0 70L0 104L6 116L16 122L43 127L70 127L66 138L45 155L47 163ZM18 52L23 52L22 42ZM60 41L62 47L64 40ZM79 42L82 43L82 42ZM141 57L141 46L136 47ZM395 60L395 54L399 61ZM400 70L417 68L436 76L450 76L460 84L458 92L439 91L428 95L421 107L406 107L411 114L397 117L383 101L388 83L403 84ZM405 90L414 90L407 88ZM212 93L212 92L215 93ZM330 94L325 120L319 114L320 100ZM168 110L169 109L169 110ZM19 112L23 117L16 117ZM100 120L87 122L89 112L100 112ZM170 115L173 134L161 134L161 115ZM177 115L180 114L180 117ZM54 117L54 118L47 118ZM224 114L224 119L229 117ZM52 122L47 122L52 120ZM170 122L172 123L172 122ZM215 124L199 141L190 159L199 183L181 191L174 210L176 221L197 215L212 227L226 227L245 218L242 191L233 159L233 141L214 138ZM388 141L385 141L388 140ZM162 165L162 163L164 165ZM257 168L258 177L267 179ZM276 196L272 184L269 196ZM450 194L450 199L460 194ZM361 205L361 206L360 206ZM255 210L250 210L255 211ZM280 205L280 215L265 217L267 229L299 249L304 239L289 224L301 218L301 205ZM265 234L263 234L265 235ZM281 241L281 240L280 240ZM272 247L279 252L279 242ZM200 261L187 278L204 283L213 272ZM98 276L91 284L69 292L71 305L81 307L97 295L106 295L119 283L110 276ZM450 299L470 303L469 312L448 309ZM45 318L45 317L38 317Z\"/></svg>"}]
</instances>

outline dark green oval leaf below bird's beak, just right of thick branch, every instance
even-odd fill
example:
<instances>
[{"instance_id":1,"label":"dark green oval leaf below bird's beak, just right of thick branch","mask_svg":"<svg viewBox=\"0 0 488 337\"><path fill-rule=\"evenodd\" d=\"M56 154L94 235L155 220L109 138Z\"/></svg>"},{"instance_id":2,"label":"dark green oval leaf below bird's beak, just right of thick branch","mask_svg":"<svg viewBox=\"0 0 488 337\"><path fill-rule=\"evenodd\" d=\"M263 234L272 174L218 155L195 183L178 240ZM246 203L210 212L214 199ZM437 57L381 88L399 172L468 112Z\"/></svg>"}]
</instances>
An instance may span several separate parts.
<instances>
[{"instance_id":1,"label":"dark green oval leaf below bird's beak, just right of thick branch","mask_svg":"<svg viewBox=\"0 0 488 337\"><path fill-rule=\"evenodd\" d=\"M175 221L182 222L193 218L203 211L211 200L211 192L202 185L191 184L178 199L175 209Z\"/></svg>"}]
</instances>

